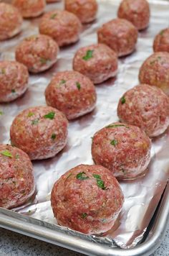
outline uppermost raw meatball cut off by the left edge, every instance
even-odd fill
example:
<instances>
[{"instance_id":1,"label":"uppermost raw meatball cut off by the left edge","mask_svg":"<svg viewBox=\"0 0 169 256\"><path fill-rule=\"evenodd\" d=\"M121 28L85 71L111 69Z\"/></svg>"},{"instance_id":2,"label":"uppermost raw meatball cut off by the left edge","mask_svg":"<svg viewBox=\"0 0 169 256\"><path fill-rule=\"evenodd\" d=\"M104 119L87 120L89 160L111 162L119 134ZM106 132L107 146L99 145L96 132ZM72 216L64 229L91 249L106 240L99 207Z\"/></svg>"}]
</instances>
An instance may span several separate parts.
<instances>
[{"instance_id":1,"label":"uppermost raw meatball cut off by the left edge","mask_svg":"<svg viewBox=\"0 0 169 256\"><path fill-rule=\"evenodd\" d=\"M0 40L14 37L21 32L22 18L11 4L0 3Z\"/></svg>"}]
</instances>

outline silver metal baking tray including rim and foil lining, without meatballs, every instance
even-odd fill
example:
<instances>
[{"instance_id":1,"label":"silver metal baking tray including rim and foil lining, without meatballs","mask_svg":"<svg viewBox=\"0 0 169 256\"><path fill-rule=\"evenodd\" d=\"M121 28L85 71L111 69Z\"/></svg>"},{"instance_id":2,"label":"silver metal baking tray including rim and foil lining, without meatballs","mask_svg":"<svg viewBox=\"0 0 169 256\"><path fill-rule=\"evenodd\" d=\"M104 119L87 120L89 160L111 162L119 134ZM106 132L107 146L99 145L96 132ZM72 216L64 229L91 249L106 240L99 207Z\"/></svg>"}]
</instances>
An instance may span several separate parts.
<instances>
[{"instance_id":1,"label":"silver metal baking tray including rim and foil lining, without meatballs","mask_svg":"<svg viewBox=\"0 0 169 256\"><path fill-rule=\"evenodd\" d=\"M120 4L120 0L98 0L98 2L100 4L98 18L92 24L87 24L83 27L79 42L61 49L59 60L53 68L38 75L31 75L29 90L21 99L11 104L0 105L0 110L5 112L4 116L0 116L1 142L9 142L9 127L14 116L22 109L26 109L26 107L44 105L44 89L53 74L57 70L71 70L74 51L84 45L97 42L97 28L102 23L116 17L117 6ZM92 163L90 136L106 124L117 121L116 107L118 99L124 91L138 83L138 69L143 60L152 52L152 40L155 34L160 29L163 29L164 26L169 27L169 1L150 0L149 2L152 9L150 27L139 33L137 50L132 55L127 56L127 58L120 58L117 78L110 79L101 86L97 86L97 109L92 114L70 122L69 143L63 152L52 160L33 162L38 185L37 195L35 195L32 201L17 209L13 209L13 211L0 208L0 227L87 255L150 255L160 244L169 217L169 129L160 138L153 141L152 160L145 178L131 182L130 189L128 189L127 183L121 182L123 192L125 192L125 201L131 202L132 198L133 207L130 206L126 209L125 205L122 214L120 214L120 219L118 219L121 229L117 227L117 232L112 229L106 237L95 237L59 227L52 216L52 209L49 206L52 183L69 168L79 163ZM46 11L54 9L54 7L62 9L63 2L47 5ZM0 43L0 59L14 59L14 49L17 43L28 35L36 34L38 32L38 23L39 18L30 21L29 19L24 20L23 32L20 35ZM111 93L113 95L112 98L110 96ZM81 152L80 157L78 155L79 152ZM83 154L83 152L86 152L86 154ZM156 180L153 177L152 180L153 172L157 172L159 169L161 174L159 172L156 173L158 177ZM151 184L155 188L151 188ZM142 187L144 187L143 190ZM140 190L142 195L141 199L137 198L138 190ZM137 201L139 201L140 205L137 205ZM135 218L134 221L131 216ZM126 223L124 219L127 219ZM133 233L130 232L130 226L134 230ZM136 227L140 227L140 230L137 230ZM116 232L115 236L113 236L114 231ZM120 239L121 241L122 239L126 241L122 241L122 244ZM130 244L127 243L128 241L130 241ZM126 250L122 249L122 247Z\"/></svg>"}]
</instances>

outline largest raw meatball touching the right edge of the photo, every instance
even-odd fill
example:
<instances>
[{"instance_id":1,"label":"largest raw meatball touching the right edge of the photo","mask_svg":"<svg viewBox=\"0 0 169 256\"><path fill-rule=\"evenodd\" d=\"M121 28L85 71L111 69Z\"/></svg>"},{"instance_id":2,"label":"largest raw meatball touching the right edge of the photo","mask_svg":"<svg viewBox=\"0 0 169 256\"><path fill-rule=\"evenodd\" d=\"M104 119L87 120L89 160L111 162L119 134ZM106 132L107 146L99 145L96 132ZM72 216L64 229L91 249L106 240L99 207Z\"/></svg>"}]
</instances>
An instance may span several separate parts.
<instances>
[{"instance_id":1,"label":"largest raw meatball touching the right edge of the photo","mask_svg":"<svg viewBox=\"0 0 169 256\"><path fill-rule=\"evenodd\" d=\"M136 125L149 137L155 137L168 128L169 98L155 86L135 86L122 96L117 113L122 122Z\"/></svg>"}]
</instances>

